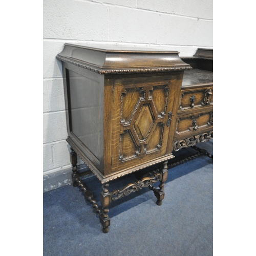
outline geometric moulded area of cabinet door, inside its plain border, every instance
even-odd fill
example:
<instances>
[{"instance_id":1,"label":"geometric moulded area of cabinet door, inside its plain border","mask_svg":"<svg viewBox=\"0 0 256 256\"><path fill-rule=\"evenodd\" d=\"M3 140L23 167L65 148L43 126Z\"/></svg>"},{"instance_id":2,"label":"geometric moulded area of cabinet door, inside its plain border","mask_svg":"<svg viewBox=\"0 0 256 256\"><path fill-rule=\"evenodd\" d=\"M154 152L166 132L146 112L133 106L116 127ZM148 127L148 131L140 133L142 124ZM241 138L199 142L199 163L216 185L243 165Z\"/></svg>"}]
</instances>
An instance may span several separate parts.
<instances>
[{"instance_id":1,"label":"geometric moulded area of cabinet door, inside its plain border","mask_svg":"<svg viewBox=\"0 0 256 256\"><path fill-rule=\"evenodd\" d=\"M119 160L161 151L168 119L167 84L121 92Z\"/></svg>"}]
</instances>

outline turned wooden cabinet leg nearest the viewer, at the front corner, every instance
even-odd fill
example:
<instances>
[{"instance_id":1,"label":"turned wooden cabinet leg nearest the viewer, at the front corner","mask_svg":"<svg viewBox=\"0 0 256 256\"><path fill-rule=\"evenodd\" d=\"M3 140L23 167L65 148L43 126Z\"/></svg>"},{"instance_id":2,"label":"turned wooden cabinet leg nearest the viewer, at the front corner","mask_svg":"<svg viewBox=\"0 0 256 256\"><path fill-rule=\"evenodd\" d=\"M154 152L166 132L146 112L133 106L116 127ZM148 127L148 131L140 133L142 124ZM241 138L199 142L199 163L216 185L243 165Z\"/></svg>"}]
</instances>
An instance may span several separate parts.
<instances>
[{"instance_id":1,"label":"turned wooden cabinet leg nearest the viewer, at the front corner","mask_svg":"<svg viewBox=\"0 0 256 256\"><path fill-rule=\"evenodd\" d=\"M111 203L110 199L110 192L109 192L109 183L102 185L102 192L100 193L100 203L102 206L101 213L99 215L100 222L102 224L102 231L104 233L109 232L109 226L110 226L110 218L109 218L109 206Z\"/></svg>"}]
</instances>

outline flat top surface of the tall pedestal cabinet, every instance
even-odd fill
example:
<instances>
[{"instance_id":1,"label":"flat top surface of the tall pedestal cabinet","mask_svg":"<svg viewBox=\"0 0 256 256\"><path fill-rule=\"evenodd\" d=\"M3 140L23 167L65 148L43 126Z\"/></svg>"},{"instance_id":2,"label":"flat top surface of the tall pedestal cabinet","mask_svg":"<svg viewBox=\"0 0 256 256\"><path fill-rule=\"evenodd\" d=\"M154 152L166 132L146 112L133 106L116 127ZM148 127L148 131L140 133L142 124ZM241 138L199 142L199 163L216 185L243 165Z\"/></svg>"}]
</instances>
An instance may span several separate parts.
<instances>
[{"instance_id":1,"label":"flat top surface of the tall pedestal cabinet","mask_svg":"<svg viewBox=\"0 0 256 256\"><path fill-rule=\"evenodd\" d=\"M113 52L113 53L180 53L178 51L170 51L161 48L153 48L153 47L138 47L138 46L125 46L125 45L89 45L89 44L68 44L66 43L65 46L72 46L77 48L84 48L90 49L94 51L100 52Z\"/></svg>"}]
</instances>

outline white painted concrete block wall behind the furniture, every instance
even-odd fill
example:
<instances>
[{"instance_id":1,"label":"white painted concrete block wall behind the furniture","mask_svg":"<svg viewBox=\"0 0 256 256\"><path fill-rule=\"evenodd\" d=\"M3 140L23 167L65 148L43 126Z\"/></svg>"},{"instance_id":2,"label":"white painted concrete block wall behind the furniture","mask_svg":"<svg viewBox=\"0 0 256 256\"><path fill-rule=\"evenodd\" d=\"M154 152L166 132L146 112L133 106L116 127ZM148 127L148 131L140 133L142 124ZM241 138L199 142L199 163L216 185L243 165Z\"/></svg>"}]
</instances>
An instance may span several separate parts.
<instances>
[{"instance_id":1,"label":"white painted concrete block wall behind the furniture","mask_svg":"<svg viewBox=\"0 0 256 256\"><path fill-rule=\"evenodd\" d=\"M49 177L71 173L62 70L55 58L63 44L154 46L193 56L199 47L213 47L212 9L212 0L44 0L44 180L50 184ZM57 183L51 188L66 184Z\"/></svg>"}]
</instances>

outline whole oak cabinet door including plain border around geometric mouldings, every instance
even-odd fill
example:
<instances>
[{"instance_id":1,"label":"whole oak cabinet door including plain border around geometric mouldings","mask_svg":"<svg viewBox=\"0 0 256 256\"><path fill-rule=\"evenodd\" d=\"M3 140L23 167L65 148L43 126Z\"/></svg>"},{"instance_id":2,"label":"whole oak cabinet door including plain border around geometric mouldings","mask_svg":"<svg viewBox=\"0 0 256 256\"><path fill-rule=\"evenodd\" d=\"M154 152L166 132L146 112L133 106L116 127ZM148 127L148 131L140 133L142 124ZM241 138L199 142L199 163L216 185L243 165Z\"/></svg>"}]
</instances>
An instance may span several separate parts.
<instances>
[{"instance_id":1,"label":"whole oak cabinet door including plain border around geometric mouldings","mask_svg":"<svg viewBox=\"0 0 256 256\"><path fill-rule=\"evenodd\" d=\"M166 77L115 81L112 172L166 154L173 109L171 82Z\"/></svg>"}]
</instances>

